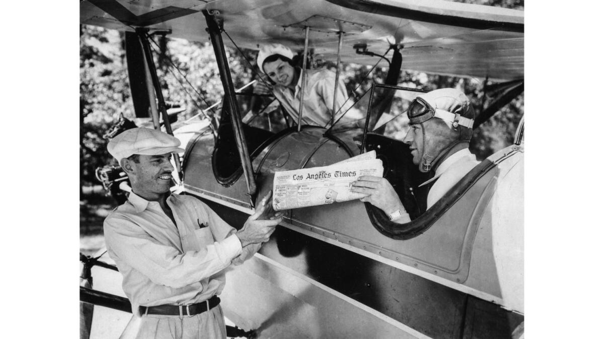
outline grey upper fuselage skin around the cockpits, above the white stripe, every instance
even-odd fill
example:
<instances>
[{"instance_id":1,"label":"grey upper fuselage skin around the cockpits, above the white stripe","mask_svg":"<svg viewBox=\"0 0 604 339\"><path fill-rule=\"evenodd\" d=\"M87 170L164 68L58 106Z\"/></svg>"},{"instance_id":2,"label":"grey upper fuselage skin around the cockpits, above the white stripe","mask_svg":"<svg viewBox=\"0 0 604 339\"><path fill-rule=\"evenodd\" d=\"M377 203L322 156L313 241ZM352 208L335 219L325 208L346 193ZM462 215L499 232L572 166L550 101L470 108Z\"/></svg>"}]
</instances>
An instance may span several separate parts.
<instances>
[{"instance_id":1,"label":"grey upper fuselage skin around the cockpits, above the white stripe","mask_svg":"<svg viewBox=\"0 0 604 339\"><path fill-rule=\"evenodd\" d=\"M292 132L268 145L253 160L259 196L272 188L272 176L277 170L329 165L350 157L341 144L325 138L322 131L322 128L307 128L300 133ZM203 193L205 197L211 195L219 200L240 203L243 207L246 197L242 178L230 188L224 188L211 176L211 147L207 144L211 141L210 138L202 139L195 145L189 145L193 150L185 168L185 188L198 195ZM489 196L483 195L494 191L496 182L493 178L498 171L495 168L484 174L425 233L405 241L379 233L360 201L294 209L286 215L286 223L292 229L307 230L318 237L354 247L359 253L377 255L395 267L406 266L454 284L463 284L468 279L472 244L481 221L481 211L489 202ZM501 297L496 282L473 281L472 288L493 298Z\"/></svg>"}]
</instances>

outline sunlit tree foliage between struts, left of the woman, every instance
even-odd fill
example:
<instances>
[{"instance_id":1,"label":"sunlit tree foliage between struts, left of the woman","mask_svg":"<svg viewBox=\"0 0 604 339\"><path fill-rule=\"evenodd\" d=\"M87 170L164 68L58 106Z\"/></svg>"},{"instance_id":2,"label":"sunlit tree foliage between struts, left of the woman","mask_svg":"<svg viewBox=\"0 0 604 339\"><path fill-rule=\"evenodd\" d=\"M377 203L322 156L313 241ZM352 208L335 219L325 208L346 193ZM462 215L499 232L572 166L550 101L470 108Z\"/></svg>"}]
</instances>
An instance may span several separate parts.
<instances>
[{"instance_id":1,"label":"sunlit tree foliage between struts, left of the woman","mask_svg":"<svg viewBox=\"0 0 604 339\"><path fill-rule=\"evenodd\" d=\"M165 48L162 45L165 43ZM166 101L186 107L188 118L222 99L223 89L210 42L155 36L151 42ZM227 50L236 87L251 79L245 60ZM251 54L248 55L251 59ZM204 101L205 100L205 101ZM94 171L112 161L102 138L120 113L135 118L130 93L124 35L80 26L80 173L83 185L97 183Z\"/></svg>"}]
</instances>

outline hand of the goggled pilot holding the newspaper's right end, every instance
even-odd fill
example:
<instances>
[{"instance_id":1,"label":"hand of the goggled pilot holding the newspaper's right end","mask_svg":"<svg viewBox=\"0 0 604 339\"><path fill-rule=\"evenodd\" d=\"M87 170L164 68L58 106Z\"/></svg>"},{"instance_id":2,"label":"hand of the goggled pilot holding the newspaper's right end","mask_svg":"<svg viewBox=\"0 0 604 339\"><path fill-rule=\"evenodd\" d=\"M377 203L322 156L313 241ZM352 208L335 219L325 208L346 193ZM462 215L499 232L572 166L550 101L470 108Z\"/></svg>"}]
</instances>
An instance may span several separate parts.
<instances>
[{"instance_id":1,"label":"hand of the goggled pilot holding the newspaper's right end","mask_svg":"<svg viewBox=\"0 0 604 339\"><path fill-rule=\"evenodd\" d=\"M406 213L405 207L400 202L399 195L387 179L374 176L361 176L352 183L350 191L356 193L368 194L360 200L376 206L384 211L385 214L391 214L397 209L400 213Z\"/></svg>"}]
</instances>

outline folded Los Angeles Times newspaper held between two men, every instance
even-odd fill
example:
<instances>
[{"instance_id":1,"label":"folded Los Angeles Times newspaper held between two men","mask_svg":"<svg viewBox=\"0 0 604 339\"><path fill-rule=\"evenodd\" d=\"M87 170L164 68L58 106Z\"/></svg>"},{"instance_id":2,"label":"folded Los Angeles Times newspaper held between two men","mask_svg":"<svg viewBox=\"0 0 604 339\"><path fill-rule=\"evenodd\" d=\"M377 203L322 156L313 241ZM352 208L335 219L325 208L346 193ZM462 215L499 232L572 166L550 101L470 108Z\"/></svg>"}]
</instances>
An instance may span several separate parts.
<instances>
[{"instance_id":1,"label":"folded Los Angeles Times newspaper held between two men","mask_svg":"<svg viewBox=\"0 0 604 339\"><path fill-rule=\"evenodd\" d=\"M360 176L381 177L382 160L375 151L323 167L275 172L272 206L275 211L355 200L367 194L350 191Z\"/></svg>"}]
</instances>

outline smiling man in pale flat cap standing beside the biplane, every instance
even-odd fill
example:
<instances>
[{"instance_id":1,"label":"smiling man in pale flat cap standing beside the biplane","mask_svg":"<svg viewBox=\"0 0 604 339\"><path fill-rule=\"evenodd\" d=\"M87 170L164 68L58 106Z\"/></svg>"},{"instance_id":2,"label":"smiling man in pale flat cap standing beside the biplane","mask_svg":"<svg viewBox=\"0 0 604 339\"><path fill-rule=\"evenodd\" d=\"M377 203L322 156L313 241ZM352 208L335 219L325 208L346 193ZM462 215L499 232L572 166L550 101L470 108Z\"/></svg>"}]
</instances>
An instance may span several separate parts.
<instances>
[{"instance_id":1,"label":"smiling man in pale flat cap standing beside the biplane","mask_svg":"<svg viewBox=\"0 0 604 339\"><path fill-rule=\"evenodd\" d=\"M184 151L179 146L142 127L109 141L132 192L105 219L105 241L132 312L142 317L137 338L226 338L223 270L250 258L281 219L260 220L267 195L237 231L197 198L170 194L170 158Z\"/></svg>"}]
</instances>

